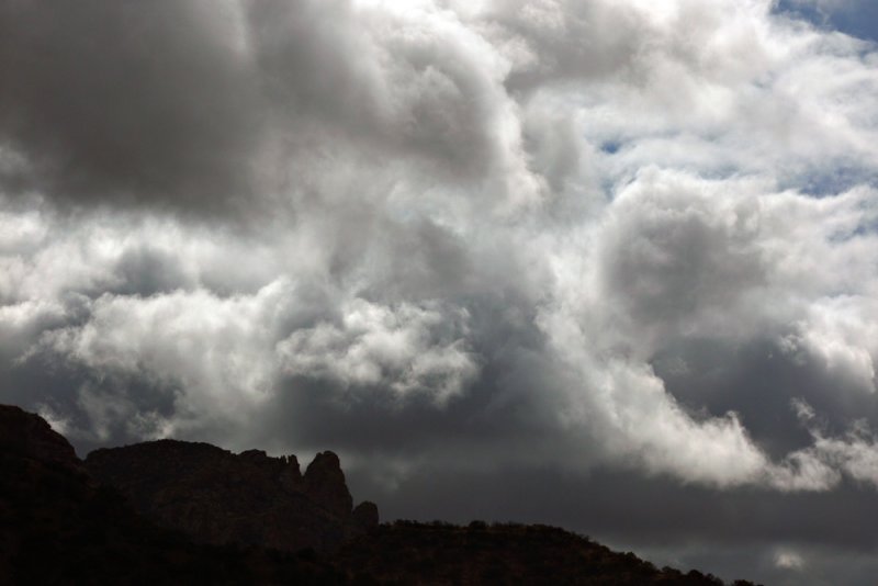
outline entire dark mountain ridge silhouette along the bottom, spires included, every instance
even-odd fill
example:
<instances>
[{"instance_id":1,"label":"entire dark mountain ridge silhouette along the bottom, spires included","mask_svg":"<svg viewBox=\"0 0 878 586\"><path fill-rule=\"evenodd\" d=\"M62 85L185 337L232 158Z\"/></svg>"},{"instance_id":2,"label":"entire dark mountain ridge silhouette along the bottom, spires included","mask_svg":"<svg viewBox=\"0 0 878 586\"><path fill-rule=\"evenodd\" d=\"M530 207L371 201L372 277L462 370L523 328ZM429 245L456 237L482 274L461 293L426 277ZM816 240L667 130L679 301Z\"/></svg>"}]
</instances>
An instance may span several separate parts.
<instances>
[{"instance_id":1,"label":"entire dark mountain ridge silhouette along the bottom, spires included","mask_svg":"<svg viewBox=\"0 0 878 586\"><path fill-rule=\"evenodd\" d=\"M551 527L378 526L351 504L331 452L304 474L293 457L167 440L83 463L0 406L0 584L722 584Z\"/></svg>"}]
</instances>

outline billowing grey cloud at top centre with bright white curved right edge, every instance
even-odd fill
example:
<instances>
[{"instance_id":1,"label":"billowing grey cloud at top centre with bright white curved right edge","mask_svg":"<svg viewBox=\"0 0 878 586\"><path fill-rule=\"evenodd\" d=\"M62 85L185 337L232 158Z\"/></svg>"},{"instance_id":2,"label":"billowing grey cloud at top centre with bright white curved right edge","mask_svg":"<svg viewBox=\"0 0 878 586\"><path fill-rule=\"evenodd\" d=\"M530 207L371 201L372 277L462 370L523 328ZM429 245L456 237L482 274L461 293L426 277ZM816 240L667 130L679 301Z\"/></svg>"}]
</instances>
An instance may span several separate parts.
<instances>
[{"instance_id":1,"label":"billowing grey cloud at top centre with bright white curved right edge","mask_svg":"<svg viewBox=\"0 0 878 586\"><path fill-rule=\"evenodd\" d=\"M277 139L296 144L303 159L314 140L337 148L324 142L330 134L407 161L406 174L441 177L451 187L443 198L463 181L489 213L542 198L503 86L508 59L454 12L432 2L306 0L249 4L249 15Z\"/></svg>"}]
</instances>

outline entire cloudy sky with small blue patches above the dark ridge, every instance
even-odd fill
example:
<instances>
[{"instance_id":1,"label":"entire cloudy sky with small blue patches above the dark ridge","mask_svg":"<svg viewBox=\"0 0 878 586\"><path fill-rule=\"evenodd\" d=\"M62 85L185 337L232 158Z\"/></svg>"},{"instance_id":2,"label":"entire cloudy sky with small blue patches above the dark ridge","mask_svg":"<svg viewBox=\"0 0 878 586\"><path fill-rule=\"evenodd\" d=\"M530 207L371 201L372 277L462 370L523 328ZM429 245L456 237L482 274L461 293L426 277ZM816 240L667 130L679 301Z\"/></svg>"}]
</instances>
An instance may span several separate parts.
<instances>
[{"instance_id":1,"label":"entire cloudy sky with small blue patches above the dark ridge","mask_svg":"<svg viewBox=\"0 0 878 586\"><path fill-rule=\"evenodd\" d=\"M0 402L873 584L875 7L1 2Z\"/></svg>"}]
</instances>

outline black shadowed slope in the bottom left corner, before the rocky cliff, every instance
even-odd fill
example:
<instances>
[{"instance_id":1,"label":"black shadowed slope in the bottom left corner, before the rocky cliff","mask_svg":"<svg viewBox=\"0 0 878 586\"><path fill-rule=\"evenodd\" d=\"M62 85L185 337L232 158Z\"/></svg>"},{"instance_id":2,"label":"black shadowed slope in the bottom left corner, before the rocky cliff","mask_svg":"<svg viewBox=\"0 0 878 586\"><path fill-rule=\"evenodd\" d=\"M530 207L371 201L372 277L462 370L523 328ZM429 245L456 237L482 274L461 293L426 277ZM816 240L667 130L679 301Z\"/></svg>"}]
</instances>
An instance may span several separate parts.
<instances>
[{"instance_id":1,"label":"black shadowed slope in the bottom left corner, before the rocky cliff","mask_svg":"<svg viewBox=\"0 0 878 586\"><path fill-rule=\"evenodd\" d=\"M157 527L90 476L42 417L0 405L0 584L349 583L326 561L195 544Z\"/></svg>"}]
</instances>

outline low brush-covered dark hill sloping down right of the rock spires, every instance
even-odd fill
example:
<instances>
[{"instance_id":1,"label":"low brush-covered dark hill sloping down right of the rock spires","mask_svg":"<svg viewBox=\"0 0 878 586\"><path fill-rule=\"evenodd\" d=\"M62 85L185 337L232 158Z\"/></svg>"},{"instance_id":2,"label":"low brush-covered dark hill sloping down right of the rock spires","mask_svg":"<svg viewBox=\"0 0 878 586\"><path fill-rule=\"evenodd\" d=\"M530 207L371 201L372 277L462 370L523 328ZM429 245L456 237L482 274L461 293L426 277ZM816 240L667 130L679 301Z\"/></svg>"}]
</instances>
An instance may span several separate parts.
<instances>
[{"instance_id":1,"label":"low brush-covered dark hill sloping down right of the rock spires","mask_svg":"<svg viewBox=\"0 0 878 586\"><path fill-rule=\"evenodd\" d=\"M398 584L711 585L697 571L656 568L633 553L619 553L587 538L543 525L442 521L382 525L368 539L347 544L341 567ZM735 586L753 586L738 581Z\"/></svg>"}]
</instances>

